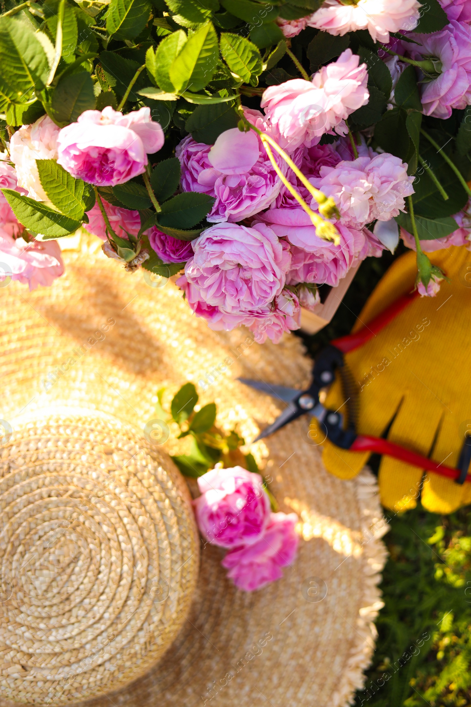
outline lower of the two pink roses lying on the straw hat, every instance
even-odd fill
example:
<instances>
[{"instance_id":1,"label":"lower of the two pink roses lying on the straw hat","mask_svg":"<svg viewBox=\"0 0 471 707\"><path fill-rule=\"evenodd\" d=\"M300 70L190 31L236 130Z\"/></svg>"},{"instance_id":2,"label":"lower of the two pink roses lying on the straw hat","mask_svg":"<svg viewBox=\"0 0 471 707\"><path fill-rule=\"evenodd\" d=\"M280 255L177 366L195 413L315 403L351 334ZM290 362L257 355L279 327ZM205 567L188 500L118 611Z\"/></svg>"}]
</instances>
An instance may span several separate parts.
<instances>
[{"instance_id":1,"label":"lower of the two pink roses lying on the straw hat","mask_svg":"<svg viewBox=\"0 0 471 707\"><path fill-rule=\"evenodd\" d=\"M221 564L238 589L253 592L282 577L281 568L296 556L297 520L296 513L272 513L258 542L227 553Z\"/></svg>"}]
</instances>

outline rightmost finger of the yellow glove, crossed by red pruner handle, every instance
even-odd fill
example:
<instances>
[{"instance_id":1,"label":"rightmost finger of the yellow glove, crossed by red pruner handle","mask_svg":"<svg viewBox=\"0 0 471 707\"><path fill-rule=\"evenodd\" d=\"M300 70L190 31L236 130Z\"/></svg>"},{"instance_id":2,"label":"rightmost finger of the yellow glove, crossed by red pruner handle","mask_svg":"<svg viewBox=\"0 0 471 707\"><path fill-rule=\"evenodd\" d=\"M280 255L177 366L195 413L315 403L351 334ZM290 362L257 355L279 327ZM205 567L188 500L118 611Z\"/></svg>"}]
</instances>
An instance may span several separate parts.
<instances>
[{"instance_id":1,"label":"rightmost finger of the yellow glove, crossed by red pruner handle","mask_svg":"<svg viewBox=\"0 0 471 707\"><path fill-rule=\"evenodd\" d=\"M458 411L454 411L458 415ZM432 458L436 462L455 468L460 458L461 448L465 441L465 430L461 436L457 427L455 415L446 415L441 424L439 436L434 446ZM446 479L439 474L427 472L422 491L422 506L431 513L452 513L453 510L471 503L471 484L457 484L452 479Z\"/></svg>"}]
</instances>

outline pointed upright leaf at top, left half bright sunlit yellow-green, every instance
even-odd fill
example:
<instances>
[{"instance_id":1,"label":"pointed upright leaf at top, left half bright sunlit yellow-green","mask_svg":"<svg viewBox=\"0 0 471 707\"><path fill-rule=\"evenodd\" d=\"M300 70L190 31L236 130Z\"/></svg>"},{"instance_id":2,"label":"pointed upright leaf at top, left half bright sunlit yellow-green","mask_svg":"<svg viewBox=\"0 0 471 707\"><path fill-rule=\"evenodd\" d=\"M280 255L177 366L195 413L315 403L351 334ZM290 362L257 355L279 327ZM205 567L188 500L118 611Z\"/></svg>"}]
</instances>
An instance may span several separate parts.
<instances>
[{"instance_id":1,"label":"pointed upright leaf at top, left half bright sunlit yellow-green","mask_svg":"<svg viewBox=\"0 0 471 707\"><path fill-rule=\"evenodd\" d=\"M217 35L208 22L196 32L189 33L186 44L170 66L169 78L177 93L204 88L213 78L217 59Z\"/></svg>"}]
</instances>

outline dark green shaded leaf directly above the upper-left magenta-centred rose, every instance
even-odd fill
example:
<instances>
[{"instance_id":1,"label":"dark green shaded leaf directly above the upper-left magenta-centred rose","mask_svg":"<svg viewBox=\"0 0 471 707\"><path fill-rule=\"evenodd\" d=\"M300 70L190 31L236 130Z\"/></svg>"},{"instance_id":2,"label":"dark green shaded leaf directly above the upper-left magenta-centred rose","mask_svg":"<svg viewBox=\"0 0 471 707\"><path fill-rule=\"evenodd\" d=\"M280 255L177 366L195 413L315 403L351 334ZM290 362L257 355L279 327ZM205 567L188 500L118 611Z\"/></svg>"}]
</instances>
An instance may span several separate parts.
<instances>
[{"instance_id":1,"label":"dark green shaded leaf directly above the upper-left magenta-centred rose","mask_svg":"<svg viewBox=\"0 0 471 707\"><path fill-rule=\"evenodd\" d=\"M54 121L60 125L76 122L85 110L96 104L93 81L86 71L61 78L52 93L51 109Z\"/></svg>"}]
</instances>

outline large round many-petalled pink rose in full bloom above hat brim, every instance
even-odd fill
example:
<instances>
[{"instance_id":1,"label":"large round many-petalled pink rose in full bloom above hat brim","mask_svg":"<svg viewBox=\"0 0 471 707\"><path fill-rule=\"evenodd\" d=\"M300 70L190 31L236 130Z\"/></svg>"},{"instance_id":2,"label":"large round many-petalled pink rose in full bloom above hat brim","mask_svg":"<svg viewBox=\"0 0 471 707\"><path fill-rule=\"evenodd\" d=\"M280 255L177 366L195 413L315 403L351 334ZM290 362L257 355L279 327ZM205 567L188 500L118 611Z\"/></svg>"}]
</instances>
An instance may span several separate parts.
<instances>
[{"instance_id":1,"label":"large round many-petalled pink rose in full bloom above hat brim","mask_svg":"<svg viewBox=\"0 0 471 707\"><path fill-rule=\"evenodd\" d=\"M228 314L268 305L285 286L290 253L264 223L253 228L218 223L191 242L186 280L201 299Z\"/></svg>"}]
</instances>

